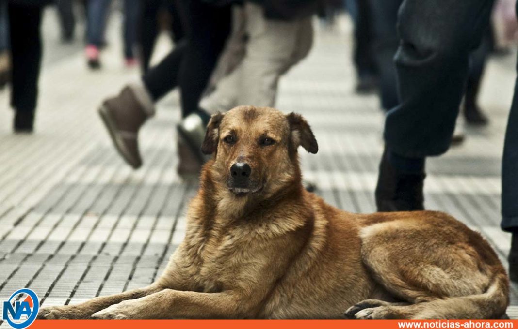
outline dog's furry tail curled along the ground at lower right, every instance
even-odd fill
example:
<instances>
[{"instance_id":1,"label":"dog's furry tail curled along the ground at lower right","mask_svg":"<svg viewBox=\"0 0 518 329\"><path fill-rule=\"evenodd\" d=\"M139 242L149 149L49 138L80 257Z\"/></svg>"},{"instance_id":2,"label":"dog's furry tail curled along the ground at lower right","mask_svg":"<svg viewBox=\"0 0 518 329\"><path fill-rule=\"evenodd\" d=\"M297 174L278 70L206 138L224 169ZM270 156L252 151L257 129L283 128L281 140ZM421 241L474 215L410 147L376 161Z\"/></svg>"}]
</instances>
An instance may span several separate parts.
<instances>
[{"instance_id":1,"label":"dog's furry tail curled along the ground at lower right","mask_svg":"<svg viewBox=\"0 0 518 329\"><path fill-rule=\"evenodd\" d=\"M501 268L482 294L437 299L421 305L423 307L413 318L500 319L509 305L509 279Z\"/></svg>"}]
</instances>

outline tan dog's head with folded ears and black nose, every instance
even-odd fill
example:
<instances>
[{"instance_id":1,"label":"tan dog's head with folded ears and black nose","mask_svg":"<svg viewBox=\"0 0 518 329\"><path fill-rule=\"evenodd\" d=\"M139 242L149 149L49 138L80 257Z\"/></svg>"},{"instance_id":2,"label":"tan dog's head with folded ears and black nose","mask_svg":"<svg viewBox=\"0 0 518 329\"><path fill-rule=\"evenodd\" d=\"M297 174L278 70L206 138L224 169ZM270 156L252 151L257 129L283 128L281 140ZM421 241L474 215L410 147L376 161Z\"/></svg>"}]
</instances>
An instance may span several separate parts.
<instances>
[{"instance_id":1,"label":"tan dog's head with folded ears and black nose","mask_svg":"<svg viewBox=\"0 0 518 329\"><path fill-rule=\"evenodd\" d=\"M302 116L270 107L238 106L211 117L202 151L214 154L206 167L226 193L261 199L300 184L299 146L310 153L318 151Z\"/></svg>"}]
</instances>

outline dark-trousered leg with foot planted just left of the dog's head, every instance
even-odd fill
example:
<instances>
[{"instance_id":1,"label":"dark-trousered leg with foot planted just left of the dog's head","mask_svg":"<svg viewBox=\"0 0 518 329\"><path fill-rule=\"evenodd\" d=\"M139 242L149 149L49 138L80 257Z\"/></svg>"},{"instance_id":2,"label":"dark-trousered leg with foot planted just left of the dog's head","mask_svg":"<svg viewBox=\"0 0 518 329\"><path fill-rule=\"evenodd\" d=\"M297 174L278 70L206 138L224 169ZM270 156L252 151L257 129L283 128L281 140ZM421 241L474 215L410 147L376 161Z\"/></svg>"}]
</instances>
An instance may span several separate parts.
<instances>
[{"instance_id":1,"label":"dark-trousered leg with foot planted just left of the dog's head","mask_svg":"<svg viewBox=\"0 0 518 329\"><path fill-rule=\"evenodd\" d=\"M182 0L184 33L188 42L178 83L182 122L178 124L178 173L197 173L204 163L200 152L209 115L199 101L231 32L231 6L209 6L199 0Z\"/></svg>"}]
</instances>

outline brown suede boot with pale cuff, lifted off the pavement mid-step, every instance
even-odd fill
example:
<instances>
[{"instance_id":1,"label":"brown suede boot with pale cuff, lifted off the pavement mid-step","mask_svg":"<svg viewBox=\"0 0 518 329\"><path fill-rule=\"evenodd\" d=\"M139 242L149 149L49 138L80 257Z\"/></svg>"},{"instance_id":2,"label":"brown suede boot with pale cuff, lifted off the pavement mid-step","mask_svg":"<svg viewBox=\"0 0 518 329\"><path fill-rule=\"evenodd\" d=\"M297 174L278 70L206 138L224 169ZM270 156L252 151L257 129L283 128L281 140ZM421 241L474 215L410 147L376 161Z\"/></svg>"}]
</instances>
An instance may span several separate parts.
<instances>
[{"instance_id":1,"label":"brown suede boot with pale cuff, lifted off the pavement mid-step","mask_svg":"<svg viewBox=\"0 0 518 329\"><path fill-rule=\"evenodd\" d=\"M106 99L99 115L122 158L134 169L142 165L138 149L138 131L154 114L151 97L143 86L125 86L118 96Z\"/></svg>"}]
</instances>

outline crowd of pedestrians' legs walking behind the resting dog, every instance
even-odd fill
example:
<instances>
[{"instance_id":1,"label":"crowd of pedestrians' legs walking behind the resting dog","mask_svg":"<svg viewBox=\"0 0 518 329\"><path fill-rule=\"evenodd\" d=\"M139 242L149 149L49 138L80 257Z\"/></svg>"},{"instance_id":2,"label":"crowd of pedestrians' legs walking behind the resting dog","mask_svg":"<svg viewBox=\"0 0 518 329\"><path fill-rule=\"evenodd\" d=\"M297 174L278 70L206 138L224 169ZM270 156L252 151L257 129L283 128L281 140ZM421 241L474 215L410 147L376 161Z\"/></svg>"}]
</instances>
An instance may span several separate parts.
<instances>
[{"instance_id":1,"label":"crowd of pedestrians' legs walking behind the resting dog","mask_svg":"<svg viewBox=\"0 0 518 329\"><path fill-rule=\"evenodd\" d=\"M34 129L41 12L52 4L59 9L64 42L75 37L74 6L83 8L85 61L92 70L102 69L111 0L0 0L0 85L11 85L15 132ZM118 95L99 99L99 115L122 158L137 169L143 163L139 129L154 115L155 103L178 88L182 175L198 173L206 161L200 145L210 116L242 104L274 106L280 77L311 50L313 17L320 15L328 23L336 11L347 10L354 25L355 92L379 93L386 113L375 193L378 211L424 209L426 158L441 155L462 140L454 134L459 113L467 124L488 123L490 118L478 103L485 63L488 56L506 51L502 35L509 40L516 36L512 0L124 0L121 4L122 58L127 66L140 65L142 75ZM171 31L174 48L151 66L162 28ZM501 227L512 233L510 276L518 281L518 89L502 163Z\"/></svg>"}]
</instances>

